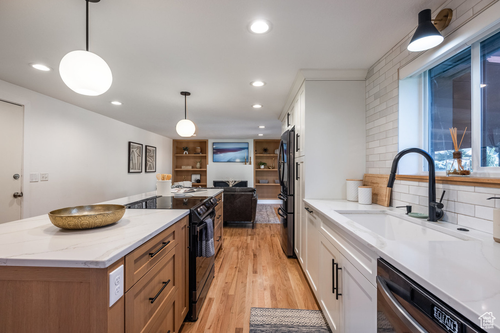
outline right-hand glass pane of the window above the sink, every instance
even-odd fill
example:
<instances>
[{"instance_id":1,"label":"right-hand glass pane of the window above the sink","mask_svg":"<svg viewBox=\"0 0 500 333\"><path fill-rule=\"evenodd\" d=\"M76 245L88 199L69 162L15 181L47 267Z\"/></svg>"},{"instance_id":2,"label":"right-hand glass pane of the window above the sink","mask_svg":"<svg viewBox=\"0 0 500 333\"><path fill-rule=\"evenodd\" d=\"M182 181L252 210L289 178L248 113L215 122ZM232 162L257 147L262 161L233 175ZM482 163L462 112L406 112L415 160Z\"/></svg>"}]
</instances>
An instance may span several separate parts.
<instances>
[{"instance_id":1,"label":"right-hand glass pane of the window above the sink","mask_svg":"<svg viewBox=\"0 0 500 333\"><path fill-rule=\"evenodd\" d=\"M500 33L481 42L481 167L500 166Z\"/></svg>"}]
</instances>

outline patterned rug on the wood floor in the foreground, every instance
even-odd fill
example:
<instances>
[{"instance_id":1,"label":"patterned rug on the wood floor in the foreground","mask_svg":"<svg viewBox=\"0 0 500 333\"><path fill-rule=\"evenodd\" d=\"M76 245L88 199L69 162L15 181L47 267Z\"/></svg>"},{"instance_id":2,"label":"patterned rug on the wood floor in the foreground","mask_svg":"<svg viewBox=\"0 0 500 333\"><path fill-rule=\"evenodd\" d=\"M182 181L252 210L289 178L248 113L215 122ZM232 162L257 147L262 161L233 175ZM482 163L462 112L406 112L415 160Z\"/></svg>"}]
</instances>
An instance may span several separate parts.
<instances>
[{"instance_id":1,"label":"patterned rug on the wood floor in the foreground","mask_svg":"<svg viewBox=\"0 0 500 333\"><path fill-rule=\"evenodd\" d=\"M250 309L250 333L331 333L321 311Z\"/></svg>"}]
</instances>

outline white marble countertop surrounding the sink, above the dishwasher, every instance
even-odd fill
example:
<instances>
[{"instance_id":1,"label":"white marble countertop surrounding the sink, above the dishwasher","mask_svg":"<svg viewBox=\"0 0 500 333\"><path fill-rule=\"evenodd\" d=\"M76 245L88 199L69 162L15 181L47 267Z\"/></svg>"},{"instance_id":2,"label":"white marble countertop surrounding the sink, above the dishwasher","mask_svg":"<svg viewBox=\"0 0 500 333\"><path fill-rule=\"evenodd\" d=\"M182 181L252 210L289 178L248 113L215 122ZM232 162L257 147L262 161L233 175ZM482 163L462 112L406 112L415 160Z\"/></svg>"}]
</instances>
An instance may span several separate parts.
<instances>
[{"instance_id":1,"label":"white marble countertop surrounding the sink, above the dishwasher","mask_svg":"<svg viewBox=\"0 0 500 333\"><path fill-rule=\"evenodd\" d=\"M494 242L492 235L467 228L470 229L466 233L469 240L389 240L341 213L390 211L404 216L402 210L346 200L303 201L334 227L352 235L477 326L480 325L479 316L485 312L492 312L496 318L500 316L500 243ZM437 226L436 229L448 229L450 233L457 233L459 227L447 222L431 224ZM494 329L487 332L500 332L499 324L500 321L496 321Z\"/></svg>"}]
</instances>

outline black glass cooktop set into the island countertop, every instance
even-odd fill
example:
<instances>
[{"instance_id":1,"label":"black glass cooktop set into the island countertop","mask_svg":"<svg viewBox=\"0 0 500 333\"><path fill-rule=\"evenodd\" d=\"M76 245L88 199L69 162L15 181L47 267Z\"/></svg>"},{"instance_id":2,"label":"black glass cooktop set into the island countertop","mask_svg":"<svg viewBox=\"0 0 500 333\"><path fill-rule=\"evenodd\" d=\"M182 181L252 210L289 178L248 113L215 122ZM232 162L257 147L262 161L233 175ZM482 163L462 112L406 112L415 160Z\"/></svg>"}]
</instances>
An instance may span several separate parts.
<instances>
[{"instance_id":1,"label":"black glass cooktop set into the island countertop","mask_svg":"<svg viewBox=\"0 0 500 333\"><path fill-rule=\"evenodd\" d=\"M211 197L155 196L126 204L130 209L191 209Z\"/></svg>"}]
</instances>

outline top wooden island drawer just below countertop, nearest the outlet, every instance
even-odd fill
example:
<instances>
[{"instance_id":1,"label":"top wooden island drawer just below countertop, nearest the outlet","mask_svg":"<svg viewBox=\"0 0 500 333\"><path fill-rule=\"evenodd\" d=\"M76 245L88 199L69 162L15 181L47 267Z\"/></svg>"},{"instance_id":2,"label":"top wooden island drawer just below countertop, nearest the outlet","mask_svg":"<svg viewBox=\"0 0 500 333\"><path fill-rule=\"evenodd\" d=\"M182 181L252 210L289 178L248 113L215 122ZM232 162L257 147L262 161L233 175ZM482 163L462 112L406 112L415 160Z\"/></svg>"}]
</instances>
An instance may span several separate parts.
<instances>
[{"instance_id":1,"label":"top wooden island drawer just below countertop, nearest the outlet","mask_svg":"<svg viewBox=\"0 0 500 333\"><path fill-rule=\"evenodd\" d=\"M186 219L187 217L184 217ZM156 265L178 243L179 221L125 256L125 291L129 290L151 267Z\"/></svg>"}]
</instances>

